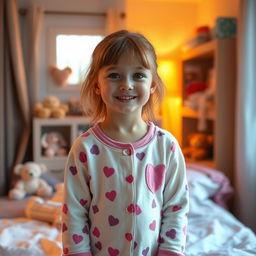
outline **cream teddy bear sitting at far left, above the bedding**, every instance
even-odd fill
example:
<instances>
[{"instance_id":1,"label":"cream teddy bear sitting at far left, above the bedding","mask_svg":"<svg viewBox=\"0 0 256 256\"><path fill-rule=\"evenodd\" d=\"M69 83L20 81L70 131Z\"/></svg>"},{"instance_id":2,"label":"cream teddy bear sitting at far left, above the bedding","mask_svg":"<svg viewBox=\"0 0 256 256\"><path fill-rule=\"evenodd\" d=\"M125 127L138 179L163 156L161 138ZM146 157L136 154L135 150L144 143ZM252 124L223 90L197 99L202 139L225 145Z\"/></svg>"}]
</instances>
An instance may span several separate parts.
<instances>
[{"instance_id":1,"label":"cream teddy bear sitting at far left, above the bedding","mask_svg":"<svg viewBox=\"0 0 256 256\"><path fill-rule=\"evenodd\" d=\"M53 192L52 187L40 178L40 175L46 171L47 168L44 164L35 162L17 164L14 167L14 173L19 175L21 179L9 191L9 199L21 200L27 195L50 197Z\"/></svg>"}]
</instances>

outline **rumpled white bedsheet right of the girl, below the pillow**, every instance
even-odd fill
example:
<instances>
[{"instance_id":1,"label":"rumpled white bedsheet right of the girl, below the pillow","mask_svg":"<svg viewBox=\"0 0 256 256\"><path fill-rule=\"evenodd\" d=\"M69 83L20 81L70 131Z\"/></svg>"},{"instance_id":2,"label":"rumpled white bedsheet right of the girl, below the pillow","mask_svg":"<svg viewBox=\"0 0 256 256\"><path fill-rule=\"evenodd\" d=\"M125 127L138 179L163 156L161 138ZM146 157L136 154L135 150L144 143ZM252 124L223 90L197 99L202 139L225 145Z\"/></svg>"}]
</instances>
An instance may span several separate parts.
<instances>
[{"instance_id":1,"label":"rumpled white bedsheet right of the girl, below the pillow","mask_svg":"<svg viewBox=\"0 0 256 256\"><path fill-rule=\"evenodd\" d=\"M255 234L210 199L190 199L186 256L256 256Z\"/></svg>"}]
</instances>

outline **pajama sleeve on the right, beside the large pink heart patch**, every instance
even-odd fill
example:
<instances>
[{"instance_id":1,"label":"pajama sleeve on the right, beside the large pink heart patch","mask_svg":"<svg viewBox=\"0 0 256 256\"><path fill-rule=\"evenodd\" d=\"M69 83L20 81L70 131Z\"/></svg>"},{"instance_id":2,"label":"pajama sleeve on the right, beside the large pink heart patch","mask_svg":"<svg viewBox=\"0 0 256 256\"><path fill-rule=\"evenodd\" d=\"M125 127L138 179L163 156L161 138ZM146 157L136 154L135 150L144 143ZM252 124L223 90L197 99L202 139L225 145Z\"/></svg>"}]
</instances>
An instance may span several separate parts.
<instances>
[{"instance_id":1,"label":"pajama sleeve on the right, beside the large pink heart patch","mask_svg":"<svg viewBox=\"0 0 256 256\"><path fill-rule=\"evenodd\" d=\"M185 250L188 214L186 166L177 142L173 151L166 170L157 256L183 256Z\"/></svg>"}]
</instances>

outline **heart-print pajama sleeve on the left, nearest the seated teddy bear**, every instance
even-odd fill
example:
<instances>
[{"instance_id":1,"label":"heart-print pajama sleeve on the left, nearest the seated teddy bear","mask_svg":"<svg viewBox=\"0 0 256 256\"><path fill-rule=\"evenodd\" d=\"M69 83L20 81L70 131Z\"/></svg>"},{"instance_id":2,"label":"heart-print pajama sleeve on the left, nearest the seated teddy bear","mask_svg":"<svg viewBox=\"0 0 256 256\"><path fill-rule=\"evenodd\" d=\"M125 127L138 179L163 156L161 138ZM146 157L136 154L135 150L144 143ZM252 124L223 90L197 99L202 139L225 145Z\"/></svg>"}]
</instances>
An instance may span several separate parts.
<instances>
[{"instance_id":1,"label":"heart-print pajama sleeve on the left, nearest the seated teddy bear","mask_svg":"<svg viewBox=\"0 0 256 256\"><path fill-rule=\"evenodd\" d=\"M62 244L65 256L91 256L89 207L91 195L87 156L82 138L73 144L65 167Z\"/></svg>"}]
</instances>

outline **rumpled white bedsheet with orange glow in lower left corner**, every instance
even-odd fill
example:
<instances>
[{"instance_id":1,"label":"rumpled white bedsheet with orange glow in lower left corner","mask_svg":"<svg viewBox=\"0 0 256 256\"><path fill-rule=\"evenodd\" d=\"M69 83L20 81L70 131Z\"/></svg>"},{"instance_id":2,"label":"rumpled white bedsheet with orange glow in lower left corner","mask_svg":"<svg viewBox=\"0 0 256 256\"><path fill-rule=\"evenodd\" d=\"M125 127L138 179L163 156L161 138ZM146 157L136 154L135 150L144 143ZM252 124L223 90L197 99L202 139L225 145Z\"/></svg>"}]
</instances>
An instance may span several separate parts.
<instances>
[{"instance_id":1,"label":"rumpled white bedsheet with orange glow in lower left corner","mask_svg":"<svg viewBox=\"0 0 256 256\"><path fill-rule=\"evenodd\" d=\"M61 234L47 223L26 218L0 220L1 256L59 256Z\"/></svg>"}]
</instances>

